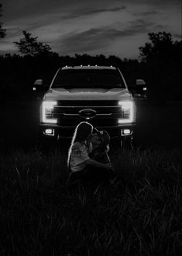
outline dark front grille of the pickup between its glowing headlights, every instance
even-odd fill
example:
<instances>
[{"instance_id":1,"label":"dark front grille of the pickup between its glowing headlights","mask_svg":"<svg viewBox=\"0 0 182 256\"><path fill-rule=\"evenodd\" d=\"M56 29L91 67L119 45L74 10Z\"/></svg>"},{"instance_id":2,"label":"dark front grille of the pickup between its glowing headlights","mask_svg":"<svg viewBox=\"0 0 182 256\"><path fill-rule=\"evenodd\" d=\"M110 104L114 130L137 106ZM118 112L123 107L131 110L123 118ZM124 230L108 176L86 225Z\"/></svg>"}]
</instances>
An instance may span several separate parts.
<instances>
[{"instance_id":1,"label":"dark front grille of the pickup between its glowing headlights","mask_svg":"<svg viewBox=\"0 0 182 256\"><path fill-rule=\"evenodd\" d=\"M93 110L92 117L83 117L81 110ZM53 108L53 118L61 126L75 127L81 121L89 121L95 127L109 127L117 125L122 117L121 107L117 100L62 100Z\"/></svg>"}]
</instances>

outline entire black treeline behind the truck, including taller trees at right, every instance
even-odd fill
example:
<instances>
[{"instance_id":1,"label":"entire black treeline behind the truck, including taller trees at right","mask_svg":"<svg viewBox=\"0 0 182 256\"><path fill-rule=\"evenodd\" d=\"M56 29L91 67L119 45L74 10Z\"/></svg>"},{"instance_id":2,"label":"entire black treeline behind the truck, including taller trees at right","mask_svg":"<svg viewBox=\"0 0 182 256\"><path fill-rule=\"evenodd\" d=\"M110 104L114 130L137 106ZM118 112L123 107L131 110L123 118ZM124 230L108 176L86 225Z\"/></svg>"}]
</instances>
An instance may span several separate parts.
<instances>
[{"instance_id":1,"label":"entire black treeline behind the truck, including taller trees at right","mask_svg":"<svg viewBox=\"0 0 182 256\"><path fill-rule=\"evenodd\" d=\"M0 55L1 98L31 98L36 79L43 79L45 84L50 84L57 69L65 65L113 65L120 68L129 86L134 86L136 79L144 79L150 99L182 100L182 41L173 43L170 33L164 32L149 33L149 40L151 43L139 47L139 60L122 60L114 55L105 57L103 54L75 54L70 57L53 52L34 56Z\"/></svg>"}]
</instances>

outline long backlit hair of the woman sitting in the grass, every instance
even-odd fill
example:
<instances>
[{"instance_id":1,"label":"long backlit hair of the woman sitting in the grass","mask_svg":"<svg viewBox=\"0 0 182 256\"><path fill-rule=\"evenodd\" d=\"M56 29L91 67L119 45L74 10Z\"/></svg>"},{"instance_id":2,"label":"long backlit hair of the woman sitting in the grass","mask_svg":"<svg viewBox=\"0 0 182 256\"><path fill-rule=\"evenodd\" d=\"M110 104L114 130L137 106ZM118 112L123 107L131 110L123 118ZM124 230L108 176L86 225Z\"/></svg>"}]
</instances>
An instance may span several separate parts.
<instances>
[{"instance_id":1,"label":"long backlit hair of the woman sitting in the grass","mask_svg":"<svg viewBox=\"0 0 182 256\"><path fill-rule=\"evenodd\" d=\"M75 128L74 135L73 135L73 138L72 138L71 144L70 144L70 149L68 150L68 157L67 157L67 167L68 168L70 165L70 153L71 153L72 146L76 142L85 141L88 138L88 135L90 135L92 131L93 131L93 126L90 123L85 122L85 121L78 124L77 127Z\"/></svg>"}]
</instances>

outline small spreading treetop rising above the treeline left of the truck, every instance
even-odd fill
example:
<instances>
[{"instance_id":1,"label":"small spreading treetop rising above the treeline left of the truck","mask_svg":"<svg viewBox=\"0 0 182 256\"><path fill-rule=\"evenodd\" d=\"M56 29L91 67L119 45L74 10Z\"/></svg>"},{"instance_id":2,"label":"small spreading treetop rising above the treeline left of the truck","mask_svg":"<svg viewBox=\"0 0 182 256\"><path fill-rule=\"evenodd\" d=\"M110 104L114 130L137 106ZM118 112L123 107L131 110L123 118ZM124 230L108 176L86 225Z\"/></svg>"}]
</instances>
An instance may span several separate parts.
<instances>
[{"instance_id":1,"label":"small spreading treetop rising above the treeline left of the truck","mask_svg":"<svg viewBox=\"0 0 182 256\"><path fill-rule=\"evenodd\" d=\"M19 47L19 52L25 55L37 56L39 54L53 54L48 44L37 41L38 37L31 37L31 33L22 31L24 38L14 42Z\"/></svg>"}]
</instances>

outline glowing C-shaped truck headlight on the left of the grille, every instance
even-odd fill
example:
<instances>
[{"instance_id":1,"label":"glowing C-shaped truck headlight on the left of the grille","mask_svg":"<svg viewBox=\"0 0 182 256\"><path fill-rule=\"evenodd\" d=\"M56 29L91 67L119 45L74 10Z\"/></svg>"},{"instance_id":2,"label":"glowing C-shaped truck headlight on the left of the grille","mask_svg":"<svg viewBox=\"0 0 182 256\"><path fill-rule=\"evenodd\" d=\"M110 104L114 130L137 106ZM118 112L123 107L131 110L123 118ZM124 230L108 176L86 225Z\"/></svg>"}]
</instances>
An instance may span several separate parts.
<instances>
[{"instance_id":1,"label":"glowing C-shaped truck headlight on the left of the grille","mask_svg":"<svg viewBox=\"0 0 182 256\"><path fill-rule=\"evenodd\" d=\"M57 101L43 101L40 107L40 121L48 124L57 124L57 119L53 118L53 107Z\"/></svg>"}]
</instances>

